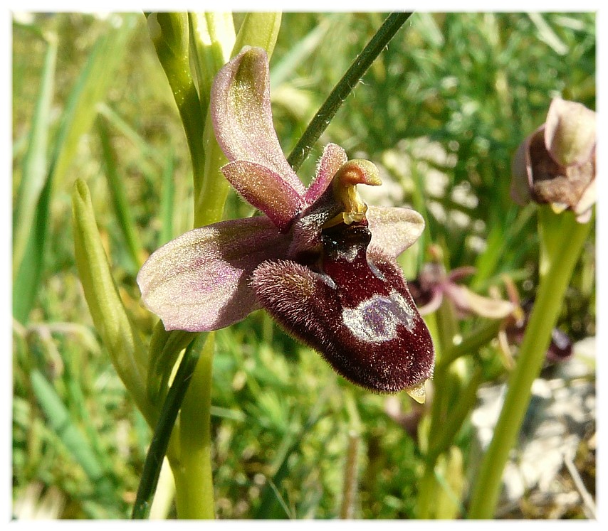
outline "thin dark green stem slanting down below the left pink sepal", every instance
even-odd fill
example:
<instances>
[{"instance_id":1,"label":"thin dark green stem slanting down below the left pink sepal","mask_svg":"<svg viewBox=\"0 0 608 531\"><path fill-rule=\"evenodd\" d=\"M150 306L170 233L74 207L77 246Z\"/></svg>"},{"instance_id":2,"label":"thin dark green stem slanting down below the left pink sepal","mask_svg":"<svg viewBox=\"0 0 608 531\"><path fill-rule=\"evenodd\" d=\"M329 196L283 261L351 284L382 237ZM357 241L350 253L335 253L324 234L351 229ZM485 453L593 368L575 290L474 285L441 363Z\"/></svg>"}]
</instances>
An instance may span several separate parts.
<instances>
[{"instance_id":1,"label":"thin dark green stem slanting down below the left pink sepal","mask_svg":"<svg viewBox=\"0 0 608 531\"><path fill-rule=\"evenodd\" d=\"M154 491L157 487L162 460L167 453L179 407L188 390L189 382L192 380L196 363L199 361L201 338L203 336L199 336L196 340L193 340L186 349L167 398L162 404L160 416L154 429L154 436L152 436L150 449L148 449L144 463L140 486L137 489L137 498L132 512L133 519L146 518L150 512L150 505L152 504Z\"/></svg>"}]
</instances>

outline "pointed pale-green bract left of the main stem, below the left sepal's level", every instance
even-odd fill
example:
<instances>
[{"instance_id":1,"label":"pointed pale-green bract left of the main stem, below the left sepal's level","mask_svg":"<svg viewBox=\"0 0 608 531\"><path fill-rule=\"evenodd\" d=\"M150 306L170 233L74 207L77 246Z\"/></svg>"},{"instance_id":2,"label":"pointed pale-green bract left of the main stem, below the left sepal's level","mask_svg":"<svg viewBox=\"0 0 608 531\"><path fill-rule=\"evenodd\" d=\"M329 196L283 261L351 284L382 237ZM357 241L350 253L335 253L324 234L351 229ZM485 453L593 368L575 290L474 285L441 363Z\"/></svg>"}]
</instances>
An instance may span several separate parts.
<instances>
[{"instance_id":1,"label":"pointed pale-green bract left of the main stem, below the left sepal's level","mask_svg":"<svg viewBox=\"0 0 608 531\"><path fill-rule=\"evenodd\" d=\"M120 379L152 424L154 412L145 393L146 349L112 279L89 190L80 179L74 185L72 213L76 266L93 323Z\"/></svg>"}]
</instances>

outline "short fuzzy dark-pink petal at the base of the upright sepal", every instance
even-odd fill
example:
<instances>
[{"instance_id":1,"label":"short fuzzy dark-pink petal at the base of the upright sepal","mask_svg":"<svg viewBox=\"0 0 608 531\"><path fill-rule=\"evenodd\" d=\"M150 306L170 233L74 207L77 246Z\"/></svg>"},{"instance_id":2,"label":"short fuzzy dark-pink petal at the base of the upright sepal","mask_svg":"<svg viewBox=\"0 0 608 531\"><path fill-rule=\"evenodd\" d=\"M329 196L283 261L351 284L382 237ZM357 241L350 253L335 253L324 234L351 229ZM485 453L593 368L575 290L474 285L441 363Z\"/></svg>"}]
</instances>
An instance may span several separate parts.
<instances>
[{"instance_id":1,"label":"short fuzzy dark-pink petal at the base of the upright sepal","mask_svg":"<svg viewBox=\"0 0 608 531\"><path fill-rule=\"evenodd\" d=\"M221 168L248 203L262 210L271 221L286 229L303 206L301 195L270 168L250 161L234 161Z\"/></svg>"}]
</instances>

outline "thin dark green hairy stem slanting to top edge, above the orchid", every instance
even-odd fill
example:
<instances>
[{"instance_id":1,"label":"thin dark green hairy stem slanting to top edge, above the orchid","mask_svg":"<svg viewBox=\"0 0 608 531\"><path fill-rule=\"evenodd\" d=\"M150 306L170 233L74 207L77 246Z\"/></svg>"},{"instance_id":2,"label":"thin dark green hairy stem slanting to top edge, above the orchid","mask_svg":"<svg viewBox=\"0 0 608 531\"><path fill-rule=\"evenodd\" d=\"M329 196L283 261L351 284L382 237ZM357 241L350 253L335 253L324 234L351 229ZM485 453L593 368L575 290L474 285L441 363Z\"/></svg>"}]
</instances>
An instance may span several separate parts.
<instances>
[{"instance_id":1,"label":"thin dark green hairy stem slanting to top edge, above the orchid","mask_svg":"<svg viewBox=\"0 0 608 531\"><path fill-rule=\"evenodd\" d=\"M362 75L365 74L369 66L372 65L380 52L384 50L393 38L394 34L397 33L397 30L403 26L410 16L412 16L412 13L390 14L369 43L363 48L362 52L357 55L350 68L342 76L342 79L327 97L327 100L325 100L325 103L315 114L310 124L308 124L298 144L295 144L295 147L291 151L287 160L294 171L298 171L298 168L300 168L310 153L310 149L313 148L315 142L320 138L327 125L331 122L331 119L335 116L337 109L340 109L340 106L360 81Z\"/></svg>"}]
</instances>

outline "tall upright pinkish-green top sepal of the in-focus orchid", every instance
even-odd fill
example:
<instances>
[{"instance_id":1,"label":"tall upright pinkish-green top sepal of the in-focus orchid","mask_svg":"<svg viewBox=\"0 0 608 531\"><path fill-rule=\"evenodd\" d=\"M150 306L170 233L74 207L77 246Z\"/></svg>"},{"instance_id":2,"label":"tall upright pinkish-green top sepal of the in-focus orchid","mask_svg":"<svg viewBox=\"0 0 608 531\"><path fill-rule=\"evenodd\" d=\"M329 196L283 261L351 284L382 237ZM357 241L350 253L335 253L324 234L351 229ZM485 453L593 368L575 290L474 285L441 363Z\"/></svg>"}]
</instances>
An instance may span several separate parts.
<instances>
[{"instance_id":1,"label":"tall upright pinkish-green top sepal of the in-focus orchid","mask_svg":"<svg viewBox=\"0 0 608 531\"><path fill-rule=\"evenodd\" d=\"M216 139L229 161L258 163L299 195L304 186L283 155L273 126L268 56L246 46L216 75L211 89Z\"/></svg>"}]
</instances>

